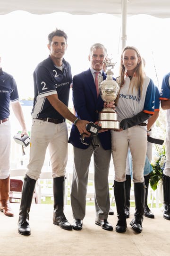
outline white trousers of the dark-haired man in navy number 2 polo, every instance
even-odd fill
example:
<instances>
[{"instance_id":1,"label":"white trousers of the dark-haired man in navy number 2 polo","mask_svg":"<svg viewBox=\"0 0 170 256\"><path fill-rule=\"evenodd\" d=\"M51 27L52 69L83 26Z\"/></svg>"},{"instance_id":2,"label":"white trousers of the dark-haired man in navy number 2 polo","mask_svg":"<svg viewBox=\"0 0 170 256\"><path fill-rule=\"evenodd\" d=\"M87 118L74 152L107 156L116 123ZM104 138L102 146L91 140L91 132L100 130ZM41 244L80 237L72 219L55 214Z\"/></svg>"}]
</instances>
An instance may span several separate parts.
<instances>
[{"instance_id":1,"label":"white trousers of the dark-haired man in navy number 2 polo","mask_svg":"<svg viewBox=\"0 0 170 256\"><path fill-rule=\"evenodd\" d=\"M54 124L33 119L30 138L30 159L26 174L34 180L40 177L46 149L51 158L52 177L65 175L68 160L68 129L65 122Z\"/></svg>"}]
</instances>

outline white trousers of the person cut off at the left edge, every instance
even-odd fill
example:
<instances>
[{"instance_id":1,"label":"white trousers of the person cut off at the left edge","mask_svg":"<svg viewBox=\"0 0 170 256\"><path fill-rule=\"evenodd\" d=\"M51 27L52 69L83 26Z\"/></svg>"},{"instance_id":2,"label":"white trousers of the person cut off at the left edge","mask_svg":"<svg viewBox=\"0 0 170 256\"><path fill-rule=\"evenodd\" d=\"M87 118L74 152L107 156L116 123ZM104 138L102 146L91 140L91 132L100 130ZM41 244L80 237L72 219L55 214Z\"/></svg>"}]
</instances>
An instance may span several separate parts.
<instances>
[{"instance_id":1,"label":"white trousers of the person cut off at the left edge","mask_svg":"<svg viewBox=\"0 0 170 256\"><path fill-rule=\"evenodd\" d=\"M0 124L0 179L10 174L11 128L9 120Z\"/></svg>"}]
</instances>

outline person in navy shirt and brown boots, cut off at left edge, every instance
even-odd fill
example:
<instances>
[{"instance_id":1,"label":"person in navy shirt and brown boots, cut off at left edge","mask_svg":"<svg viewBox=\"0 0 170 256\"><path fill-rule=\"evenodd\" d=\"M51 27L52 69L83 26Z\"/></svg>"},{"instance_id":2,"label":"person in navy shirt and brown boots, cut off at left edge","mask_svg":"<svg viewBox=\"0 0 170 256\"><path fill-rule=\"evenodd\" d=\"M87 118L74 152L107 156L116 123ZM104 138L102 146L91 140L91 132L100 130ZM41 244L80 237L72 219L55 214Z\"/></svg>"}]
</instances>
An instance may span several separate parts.
<instances>
[{"instance_id":1,"label":"person in navy shirt and brown boots, cut off at left edge","mask_svg":"<svg viewBox=\"0 0 170 256\"><path fill-rule=\"evenodd\" d=\"M21 104L19 102L16 81L12 75L4 72L0 67L0 211L6 216L12 217L14 213L9 204L11 145L11 126L9 120L10 103L22 127L21 136L28 135Z\"/></svg>"}]
</instances>

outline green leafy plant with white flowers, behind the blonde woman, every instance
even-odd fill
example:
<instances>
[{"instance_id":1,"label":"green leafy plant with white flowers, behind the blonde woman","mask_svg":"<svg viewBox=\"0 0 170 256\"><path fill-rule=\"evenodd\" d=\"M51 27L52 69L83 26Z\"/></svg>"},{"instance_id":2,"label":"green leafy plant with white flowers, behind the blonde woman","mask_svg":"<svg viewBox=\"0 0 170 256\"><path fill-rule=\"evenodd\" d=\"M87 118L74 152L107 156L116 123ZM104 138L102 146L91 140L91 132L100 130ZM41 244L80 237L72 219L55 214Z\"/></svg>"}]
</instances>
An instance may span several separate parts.
<instances>
[{"instance_id":1,"label":"green leafy plant with white flowers, behind the blonde woman","mask_svg":"<svg viewBox=\"0 0 170 256\"><path fill-rule=\"evenodd\" d=\"M153 190L157 189L158 183L162 179L163 169L166 161L165 146L160 148L158 145L155 145L155 147L157 150L157 155L153 157L151 163L153 171L150 173L150 185Z\"/></svg>"}]
</instances>

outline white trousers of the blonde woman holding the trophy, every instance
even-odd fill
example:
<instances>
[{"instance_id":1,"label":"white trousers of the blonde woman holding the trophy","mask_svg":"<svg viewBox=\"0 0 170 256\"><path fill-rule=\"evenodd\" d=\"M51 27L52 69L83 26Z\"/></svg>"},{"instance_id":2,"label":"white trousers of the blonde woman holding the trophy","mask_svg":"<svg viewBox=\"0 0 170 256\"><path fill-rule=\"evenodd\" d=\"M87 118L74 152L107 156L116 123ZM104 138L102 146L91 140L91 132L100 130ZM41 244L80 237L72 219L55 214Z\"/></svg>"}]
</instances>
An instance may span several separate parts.
<instances>
[{"instance_id":1,"label":"white trousers of the blonde woman holding the trophy","mask_svg":"<svg viewBox=\"0 0 170 256\"><path fill-rule=\"evenodd\" d=\"M147 150L147 128L134 126L121 132L111 131L112 156L115 181L126 180L128 147L132 155L133 182L144 182L144 163Z\"/></svg>"}]
</instances>

